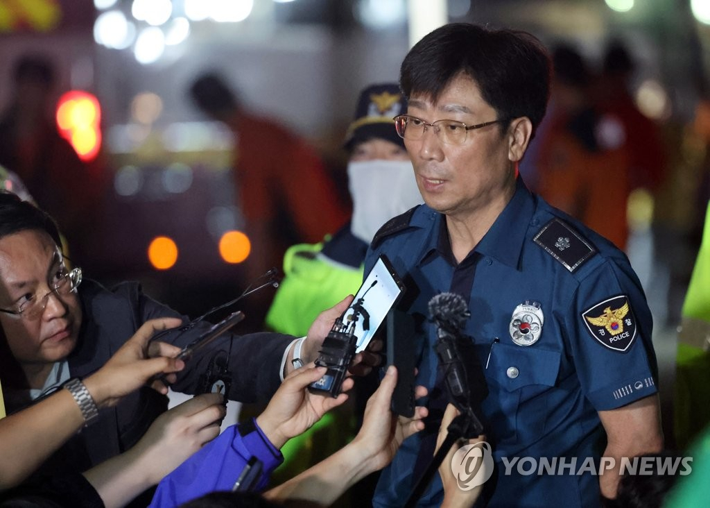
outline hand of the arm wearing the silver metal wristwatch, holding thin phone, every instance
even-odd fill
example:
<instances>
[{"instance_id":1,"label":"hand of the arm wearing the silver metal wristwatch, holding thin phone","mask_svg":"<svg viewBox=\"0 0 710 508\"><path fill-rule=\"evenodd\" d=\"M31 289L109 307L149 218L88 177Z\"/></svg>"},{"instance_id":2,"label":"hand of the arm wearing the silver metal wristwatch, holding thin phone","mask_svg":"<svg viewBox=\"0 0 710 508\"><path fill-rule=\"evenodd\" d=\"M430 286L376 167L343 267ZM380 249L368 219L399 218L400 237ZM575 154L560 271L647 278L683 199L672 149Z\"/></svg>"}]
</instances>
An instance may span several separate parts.
<instances>
[{"instance_id":1,"label":"hand of the arm wearing the silver metal wristwatch, holding thin phone","mask_svg":"<svg viewBox=\"0 0 710 508\"><path fill-rule=\"evenodd\" d=\"M175 382L175 372L185 367L185 362L174 357L180 347L165 342L150 342L151 337L166 328L174 328L182 321L178 318L160 318L146 321L104 366L84 379L89 393L99 407L115 406L126 396L158 374L167 374L168 383ZM168 393L163 382L151 385L162 394Z\"/></svg>"}]
</instances>

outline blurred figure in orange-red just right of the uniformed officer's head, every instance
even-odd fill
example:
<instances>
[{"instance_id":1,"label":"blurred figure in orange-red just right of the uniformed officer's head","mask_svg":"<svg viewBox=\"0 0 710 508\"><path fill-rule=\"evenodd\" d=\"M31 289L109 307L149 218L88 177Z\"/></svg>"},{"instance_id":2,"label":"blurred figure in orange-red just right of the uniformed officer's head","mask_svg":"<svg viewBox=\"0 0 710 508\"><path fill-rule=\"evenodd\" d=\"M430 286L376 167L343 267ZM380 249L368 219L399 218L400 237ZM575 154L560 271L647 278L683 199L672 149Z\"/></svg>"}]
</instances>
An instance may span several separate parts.
<instances>
[{"instance_id":1,"label":"blurred figure in orange-red just right of the uniformed officer's head","mask_svg":"<svg viewBox=\"0 0 710 508\"><path fill-rule=\"evenodd\" d=\"M536 190L623 250L630 183L621 124L594 104L591 71L576 49L557 45L552 63L552 108L539 140Z\"/></svg>"}]
</instances>

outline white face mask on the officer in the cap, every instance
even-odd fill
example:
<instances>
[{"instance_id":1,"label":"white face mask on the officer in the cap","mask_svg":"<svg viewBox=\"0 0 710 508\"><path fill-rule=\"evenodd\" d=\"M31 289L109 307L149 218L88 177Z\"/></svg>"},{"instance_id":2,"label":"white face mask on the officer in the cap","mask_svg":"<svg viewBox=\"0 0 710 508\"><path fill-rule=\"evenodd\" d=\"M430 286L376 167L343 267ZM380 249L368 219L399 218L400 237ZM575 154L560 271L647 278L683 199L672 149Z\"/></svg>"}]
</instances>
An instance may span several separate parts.
<instances>
[{"instance_id":1,"label":"white face mask on the officer in the cap","mask_svg":"<svg viewBox=\"0 0 710 508\"><path fill-rule=\"evenodd\" d=\"M424 202L410 161L351 162L348 182L353 200L350 230L368 244L385 222Z\"/></svg>"}]
</instances>

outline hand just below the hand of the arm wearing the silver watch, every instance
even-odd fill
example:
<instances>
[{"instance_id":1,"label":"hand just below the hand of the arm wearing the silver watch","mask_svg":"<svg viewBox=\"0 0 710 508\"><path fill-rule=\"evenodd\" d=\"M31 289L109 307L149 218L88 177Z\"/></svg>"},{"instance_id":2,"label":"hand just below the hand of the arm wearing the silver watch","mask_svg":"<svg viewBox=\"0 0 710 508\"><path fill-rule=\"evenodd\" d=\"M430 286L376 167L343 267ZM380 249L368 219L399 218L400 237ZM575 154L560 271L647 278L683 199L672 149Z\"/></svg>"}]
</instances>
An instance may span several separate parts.
<instances>
[{"instance_id":1,"label":"hand just below the hand of the arm wearing the silver watch","mask_svg":"<svg viewBox=\"0 0 710 508\"><path fill-rule=\"evenodd\" d=\"M131 448L151 485L219 436L224 414L222 395L202 394L158 416L141 441Z\"/></svg>"}]
</instances>

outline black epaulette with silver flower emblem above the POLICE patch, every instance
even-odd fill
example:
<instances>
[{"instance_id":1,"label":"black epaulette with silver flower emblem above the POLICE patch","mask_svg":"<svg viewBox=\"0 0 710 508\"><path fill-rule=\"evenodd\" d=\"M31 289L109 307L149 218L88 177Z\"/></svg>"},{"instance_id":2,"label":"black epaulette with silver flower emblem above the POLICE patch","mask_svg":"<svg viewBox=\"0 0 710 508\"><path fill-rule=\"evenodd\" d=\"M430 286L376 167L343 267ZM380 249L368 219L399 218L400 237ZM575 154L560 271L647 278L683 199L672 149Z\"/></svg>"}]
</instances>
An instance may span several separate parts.
<instances>
[{"instance_id":1,"label":"black epaulette with silver flower emblem above the POLICE patch","mask_svg":"<svg viewBox=\"0 0 710 508\"><path fill-rule=\"evenodd\" d=\"M584 261L597 252L596 247L591 245L576 229L557 217L542 226L532 241L562 263L570 273L578 269L584 264Z\"/></svg>"}]
</instances>

